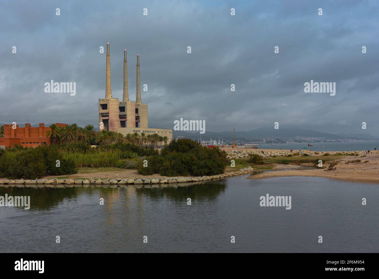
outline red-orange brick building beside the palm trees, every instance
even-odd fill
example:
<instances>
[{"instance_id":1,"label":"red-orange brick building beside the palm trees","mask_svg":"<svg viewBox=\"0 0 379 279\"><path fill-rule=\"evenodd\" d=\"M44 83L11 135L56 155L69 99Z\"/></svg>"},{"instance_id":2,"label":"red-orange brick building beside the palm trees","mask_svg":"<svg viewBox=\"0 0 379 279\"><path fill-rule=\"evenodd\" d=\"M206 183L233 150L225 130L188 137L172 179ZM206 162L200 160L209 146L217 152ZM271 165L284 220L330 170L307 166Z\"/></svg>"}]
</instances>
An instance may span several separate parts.
<instances>
[{"instance_id":1,"label":"red-orange brick building beside the palm trees","mask_svg":"<svg viewBox=\"0 0 379 279\"><path fill-rule=\"evenodd\" d=\"M67 126L63 123L55 123L58 127ZM4 124L4 137L0 137L0 148L14 146L20 144L23 147L37 147L39 145L50 144L50 137L46 137L46 132L50 131L50 127L45 127L45 123L39 123L38 127L31 127L30 123L25 123L25 127L20 128L16 125L16 129L12 128L12 124Z\"/></svg>"}]
</instances>

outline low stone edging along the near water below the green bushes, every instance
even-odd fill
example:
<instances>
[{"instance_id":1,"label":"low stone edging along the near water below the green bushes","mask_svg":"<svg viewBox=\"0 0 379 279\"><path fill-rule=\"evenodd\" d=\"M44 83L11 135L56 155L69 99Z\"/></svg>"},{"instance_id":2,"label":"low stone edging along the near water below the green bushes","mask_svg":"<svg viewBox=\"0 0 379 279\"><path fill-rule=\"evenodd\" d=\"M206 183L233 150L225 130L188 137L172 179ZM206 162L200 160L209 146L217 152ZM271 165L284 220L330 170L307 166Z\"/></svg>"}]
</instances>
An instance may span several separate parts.
<instances>
[{"instance_id":1,"label":"low stone edging along the near water below the green bushes","mask_svg":"<svg viewBox=\"0 0 379 279\"><path fill-rule=\"evenodd\" d=\"M36 179L36 180L0 180L0 187L48 187L48 188L63 188L63 187L79 187L79 186L114 186L123 187L127 184L165 184L165 183L192 183L198 181L214 180L224 177L233 177L235 175L252 172L252 167L246 167L236 172L226 172L219 175L203 176L203 177L164 177L164 178L115 178L115 179Z\"/></svg>"}]
</instances>

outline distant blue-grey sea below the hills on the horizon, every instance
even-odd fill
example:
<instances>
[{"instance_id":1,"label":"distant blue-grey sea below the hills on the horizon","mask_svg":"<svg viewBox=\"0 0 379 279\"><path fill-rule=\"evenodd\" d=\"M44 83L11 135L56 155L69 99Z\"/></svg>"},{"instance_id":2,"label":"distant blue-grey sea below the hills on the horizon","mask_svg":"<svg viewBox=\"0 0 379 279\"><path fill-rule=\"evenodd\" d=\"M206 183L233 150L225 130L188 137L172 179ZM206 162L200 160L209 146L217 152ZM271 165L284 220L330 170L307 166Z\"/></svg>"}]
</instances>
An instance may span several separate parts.
<instances>
[{"instance_id":1,"label":"distant blue-grey sea below the hills on the horizon","mask_svg":"<svg viewBox=\"0 0 379 279\"><path fill-rule=\"evenodd\" d=\"M308 146L308 143L275 143L275 145L262 144L258 145L258 148L262 149L293 149L303 150L306 147L308 150L314 151L359 151L359 150L376 150L379 149L379 142L316 142L312 143L313 146Z\"/></svg>"}]
</instances>

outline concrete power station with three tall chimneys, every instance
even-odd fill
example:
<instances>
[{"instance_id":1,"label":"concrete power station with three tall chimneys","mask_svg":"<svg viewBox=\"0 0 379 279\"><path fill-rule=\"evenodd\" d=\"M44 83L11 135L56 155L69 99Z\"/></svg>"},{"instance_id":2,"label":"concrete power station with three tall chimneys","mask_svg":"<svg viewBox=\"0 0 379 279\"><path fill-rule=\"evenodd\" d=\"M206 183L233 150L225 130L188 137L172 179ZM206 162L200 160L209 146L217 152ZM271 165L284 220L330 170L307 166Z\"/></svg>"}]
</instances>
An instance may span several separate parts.
<instances>
[{"instance_id":1,"label":"concrete power station with three tall chimneys","mask_svg":"<svg viewBox=\"0 0 379 279\"><path fill-rule=\"evenodd\" d=\"M99 126L100 130L119 132L123 135L134 132L145 134L158 134L167 136L168 142L172 140L171 129L158 129L148 127L147 104L141 99L141 80L139 72L139 54L137 54L137 89L136 101L129 100L128 93L128 62L126 49L124 49L124 93L122 102L112 97L111 89L111 61L109 43L106 44L106 84L105 99L99 99Z\"/></svg>"}]
</instances>

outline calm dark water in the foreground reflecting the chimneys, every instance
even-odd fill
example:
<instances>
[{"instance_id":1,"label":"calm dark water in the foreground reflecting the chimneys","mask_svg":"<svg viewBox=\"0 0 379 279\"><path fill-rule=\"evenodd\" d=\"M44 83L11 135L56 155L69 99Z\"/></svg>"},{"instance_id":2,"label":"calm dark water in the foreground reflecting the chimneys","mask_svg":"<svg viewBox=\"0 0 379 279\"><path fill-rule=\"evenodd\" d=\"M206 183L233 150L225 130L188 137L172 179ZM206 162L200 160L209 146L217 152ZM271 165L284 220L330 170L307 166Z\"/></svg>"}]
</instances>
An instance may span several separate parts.
<instances>
[{"instance_id":1,"label":"calm dark water in the foreground reflecting the chimneys","mask_svg":"<svg viewBox=\"0 0 379 279\"><path fill-rule=\"evenodd\" d=\"M0 195L30 195L32 204L0 208L2 252L379 252L379 184L246 177L158 188L1 187ZM267 193L290 195L292 209L260 207Z\"/></svg>"}]
</instances>

